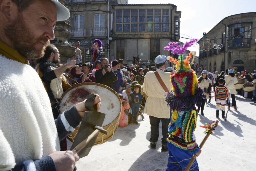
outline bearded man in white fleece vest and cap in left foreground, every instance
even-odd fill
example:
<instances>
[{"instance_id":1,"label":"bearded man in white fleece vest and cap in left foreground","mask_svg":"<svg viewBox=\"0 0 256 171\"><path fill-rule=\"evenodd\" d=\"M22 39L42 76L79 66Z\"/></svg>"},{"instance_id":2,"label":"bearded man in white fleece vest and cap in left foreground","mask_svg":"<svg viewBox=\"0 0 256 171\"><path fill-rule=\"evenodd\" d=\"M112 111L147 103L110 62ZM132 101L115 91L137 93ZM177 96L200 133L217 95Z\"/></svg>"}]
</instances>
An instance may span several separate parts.
<instances>
[{"instance_id":1,"label":"bearded man in white fleece vest and cap in left foreground","mask_svg":"<svg viewBox=\"0 0 256 171\"><path fill-rule=\"evenodd\" d=\"M43 83L27 60L43 56L56 21L67 20L69 10L57 0L1 0L0 9L0 170L73 171L79 156L59 151L59 140L78 126L86 100L54 120ZM98 95L93 104L100 109Z\"/></svg>"}]
</instances>

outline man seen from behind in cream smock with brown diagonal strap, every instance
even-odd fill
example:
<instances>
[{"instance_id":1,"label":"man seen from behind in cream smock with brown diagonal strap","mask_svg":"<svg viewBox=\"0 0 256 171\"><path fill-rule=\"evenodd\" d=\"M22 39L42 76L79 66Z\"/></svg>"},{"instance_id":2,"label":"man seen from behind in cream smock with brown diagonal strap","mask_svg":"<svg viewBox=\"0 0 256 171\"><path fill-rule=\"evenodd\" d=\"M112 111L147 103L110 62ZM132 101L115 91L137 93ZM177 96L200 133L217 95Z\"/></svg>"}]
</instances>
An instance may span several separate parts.
<instances>
[{"instance_id":1,"label":"man seen from behind in cream smock with brown diagonal strap","mask_svg":"<svg viewBox=\"0 0 256 171\"><path fill-rule=\"evenodd\" d=\"M169 72L164 72L167 57L158 55L155 58L156 71L162 79L164 85L170 92L172 84L170 84ZM159 123L162 122L162 151L168 151L166 138L168 137L168 124L170 122L170 109L165 101L166 91L159 83L155 73L149 71L144 79L143 86L144 95L148 97L145 104L144 113L149 115L150 122L150 146L152 149L156 148L157 140L159 137Z\"/></svg>"}]
</instances>

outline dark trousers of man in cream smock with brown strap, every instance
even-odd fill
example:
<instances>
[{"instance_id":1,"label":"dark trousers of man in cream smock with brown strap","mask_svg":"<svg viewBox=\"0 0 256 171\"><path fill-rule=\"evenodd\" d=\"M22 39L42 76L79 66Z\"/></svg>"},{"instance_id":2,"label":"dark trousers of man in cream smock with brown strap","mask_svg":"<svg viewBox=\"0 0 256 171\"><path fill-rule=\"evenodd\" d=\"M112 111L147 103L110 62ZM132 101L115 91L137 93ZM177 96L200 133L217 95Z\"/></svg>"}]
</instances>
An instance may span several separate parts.
<instances>
[{"instance_id":1,"label":"dark trousers of man in cream smock with brown strap","mask_svg":"<svg viewBox=\"0 0 256 171\"><path fill-rule=\"evenodd\" d=\"M149 122L150 122L150 142L157 142L159 137L159 123L162 122L162 145L167 145L166 138L168 137L168 125L170 122L170 119L168 118L157 118L154 116L149 116Z\"/></svg>"}]
</instances>

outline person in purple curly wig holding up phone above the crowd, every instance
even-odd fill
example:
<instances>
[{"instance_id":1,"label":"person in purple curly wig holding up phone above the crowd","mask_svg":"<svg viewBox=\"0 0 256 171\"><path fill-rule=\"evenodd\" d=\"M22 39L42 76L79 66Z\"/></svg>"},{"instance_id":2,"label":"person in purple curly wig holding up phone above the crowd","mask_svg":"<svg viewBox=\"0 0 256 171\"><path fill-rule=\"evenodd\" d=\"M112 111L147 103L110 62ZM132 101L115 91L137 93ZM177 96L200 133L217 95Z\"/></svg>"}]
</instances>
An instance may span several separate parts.
<instances>
[{"instance_id":1,"label":"person in purple curly wig holding up phone above the crowd","mask_svg":"<svg viewBox=\"0 0 256 171\"><path fill-rule=\"evenodd\" d=\"M101 52L102 52L102 42L100 39L95 39L93 41L92 47L91 47L91 55L93 56L92 58L92 64L93 67L95 67L94 63L95 61L102 61L101 60Z\"/></svg>"}]
</instances>

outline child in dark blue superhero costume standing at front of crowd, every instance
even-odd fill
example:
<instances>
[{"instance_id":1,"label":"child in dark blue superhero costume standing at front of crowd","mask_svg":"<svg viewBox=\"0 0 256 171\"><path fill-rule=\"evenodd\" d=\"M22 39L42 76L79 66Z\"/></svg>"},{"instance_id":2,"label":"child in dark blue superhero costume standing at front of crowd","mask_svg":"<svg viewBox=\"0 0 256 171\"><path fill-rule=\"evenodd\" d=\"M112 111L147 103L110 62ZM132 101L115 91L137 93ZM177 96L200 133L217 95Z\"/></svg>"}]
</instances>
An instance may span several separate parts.
<instances>
[{"instance_id":1,"label":"child in dark blue superhero costume standing at front of crowd","mask_svg":"<svg viewBox=\"0 0 256 171\"><path fill-rule=\"evenodd\" d=\"M132 108L132 119L128 124L139 124L136 121L136 117L138 115L138 111L140 109L140 105L142 102L143 95L141 94L141 86L139 84L134 85L134 92L130 96L131 108Z\"/></svg>"}]
</instances>

